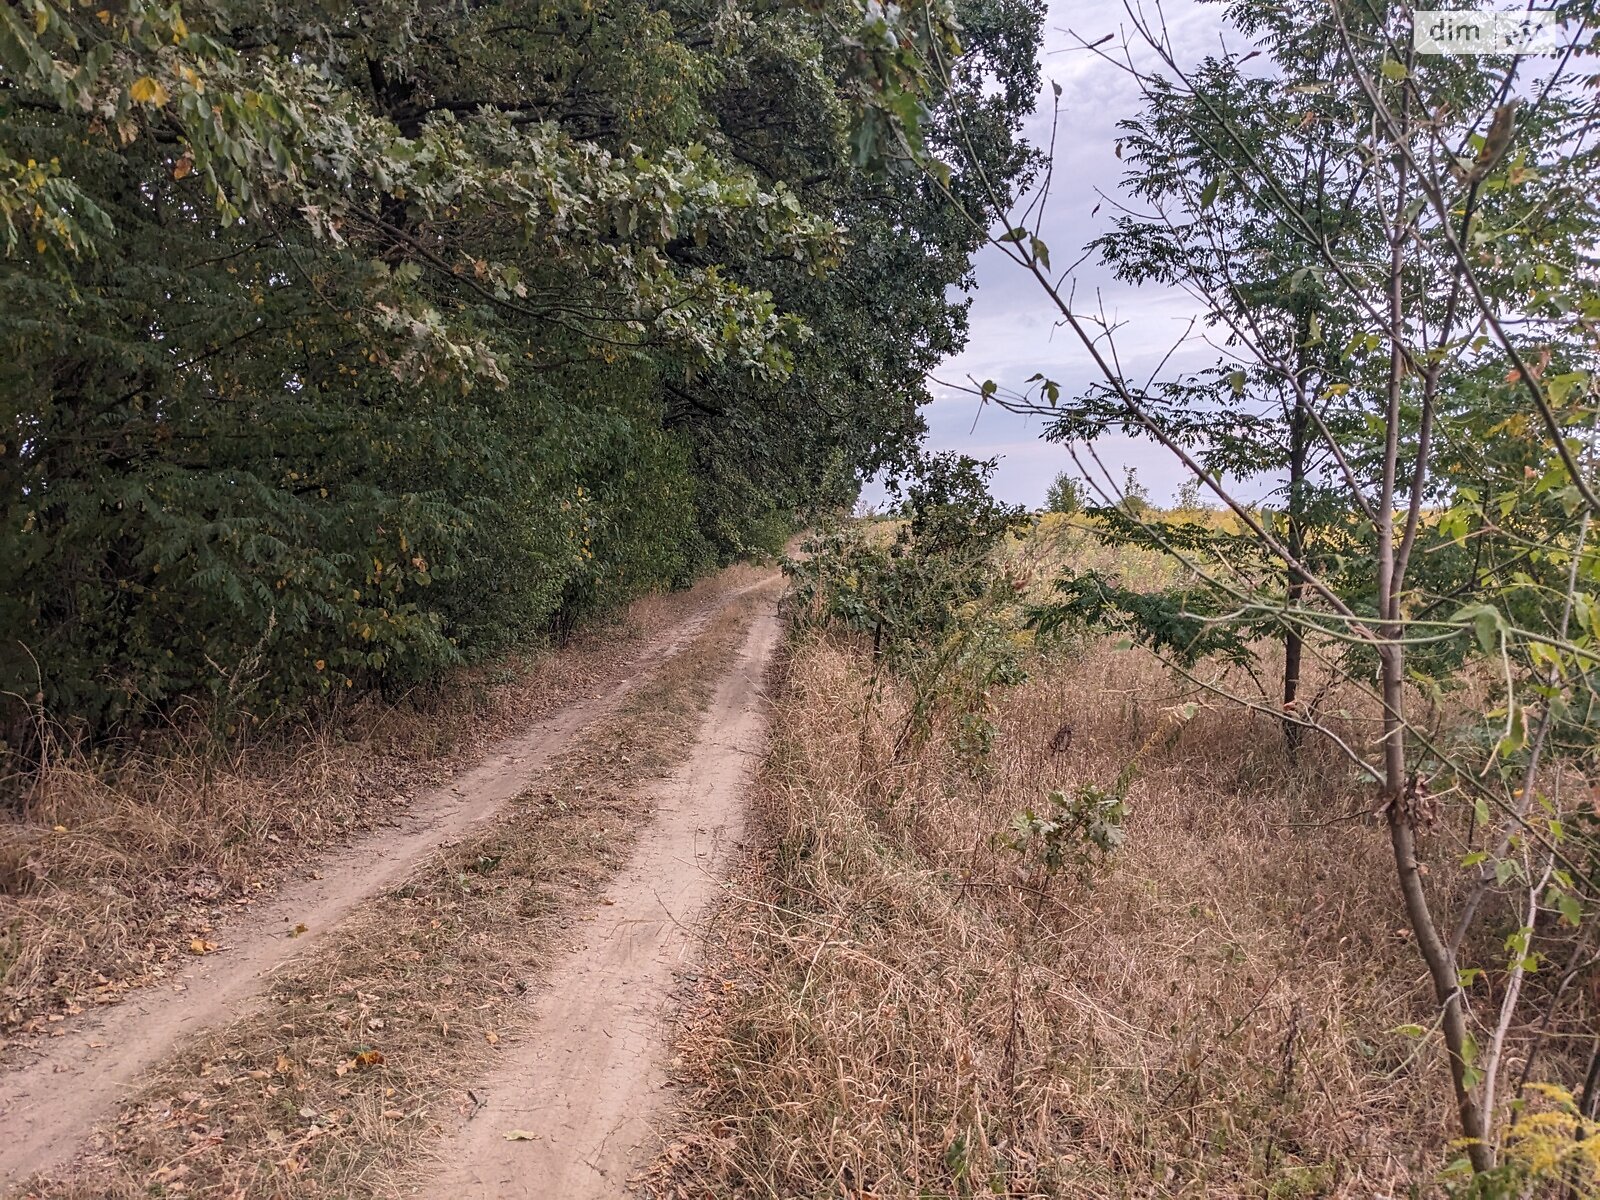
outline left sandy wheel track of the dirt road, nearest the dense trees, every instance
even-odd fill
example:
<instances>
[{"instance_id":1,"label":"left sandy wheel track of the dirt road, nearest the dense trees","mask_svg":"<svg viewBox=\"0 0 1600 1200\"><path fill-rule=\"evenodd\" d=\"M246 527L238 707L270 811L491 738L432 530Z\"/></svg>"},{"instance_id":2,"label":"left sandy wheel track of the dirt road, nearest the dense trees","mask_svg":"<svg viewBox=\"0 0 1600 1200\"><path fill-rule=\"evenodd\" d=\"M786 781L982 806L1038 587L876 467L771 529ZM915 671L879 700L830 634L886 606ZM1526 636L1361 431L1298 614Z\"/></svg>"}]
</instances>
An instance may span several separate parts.
<instances>
[{"instance_id":1,"label":"left sandy wheel track of the dirt road, nearest the dense trees","mask_svg":"<svg viewBox=\"0 0 1600 1200\"><path fill-rule=\"evenodd\" d=\"M130 1085L179 1038L230 1018L270 971L315 946L362 899L397 883L424 856L491 816L573 734L614 709L640 677L699 634L718 606L747 590L718 597L646 645L619 683L557 709L477 766L418 797L395 827L309 862L307 878L285 885L250 915L221 928L216 941L224 952L195 958L170 982L83 1016L46 1042L37 1058L0 1075L0 1194L75 1157ZM301 925L306 931L296 936Z\"/></svg>"}]
</instances>

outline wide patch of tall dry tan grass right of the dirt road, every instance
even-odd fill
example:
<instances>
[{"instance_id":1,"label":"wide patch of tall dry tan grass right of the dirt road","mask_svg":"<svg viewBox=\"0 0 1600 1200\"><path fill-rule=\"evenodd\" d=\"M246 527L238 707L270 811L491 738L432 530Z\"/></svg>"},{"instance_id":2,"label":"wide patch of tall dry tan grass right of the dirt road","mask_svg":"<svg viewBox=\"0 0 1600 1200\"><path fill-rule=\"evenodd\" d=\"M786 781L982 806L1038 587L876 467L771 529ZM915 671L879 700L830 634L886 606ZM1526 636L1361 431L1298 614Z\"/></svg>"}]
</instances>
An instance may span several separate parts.
<instances>
[{"instance_id":1,"label":"wide patch of tall dry tan grass right of the dirt road","mask_svg":"<svg viewBox=\"0 0 1600 1200\"><path fill-rule=\"evenodd\" d=\"M1326 746L1184 696L1141 651L1034 664L976 779L893 763L893 694L827 640L789 664L771 850L717 926L661 1197L1309 1197L1432 1190L1432 997L1381 824ZM1070 749L1050 741L1069 722ZM997 845L1054 787L1138 779L1091 878ZM1448 906L1448 896L1440 902ZM725 986L726 984L726 986Z\"/></svg>"}]
</instances>

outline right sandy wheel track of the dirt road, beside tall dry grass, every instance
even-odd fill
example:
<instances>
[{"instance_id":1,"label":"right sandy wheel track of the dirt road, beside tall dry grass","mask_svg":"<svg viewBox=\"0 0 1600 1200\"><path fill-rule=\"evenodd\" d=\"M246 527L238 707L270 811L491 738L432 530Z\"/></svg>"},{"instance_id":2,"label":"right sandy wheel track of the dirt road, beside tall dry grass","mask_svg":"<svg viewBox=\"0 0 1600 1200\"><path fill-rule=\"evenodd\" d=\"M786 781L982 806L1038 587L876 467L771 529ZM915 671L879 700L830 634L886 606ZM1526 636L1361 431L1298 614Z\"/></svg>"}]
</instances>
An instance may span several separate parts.
<instances>
[{"instance_id":1,"label":"right sandy wheel track of the dirt road, beside tall dry grass","mask_svg":"<svg viewBox=\"0 0 1600 1200\"><path fill-rule=\"evenodd\" d=\"M778 619L755 619L717 688L688 762L654 790L634 861L606 890L586 946L531 1003L538 1022L485 1088L483 1107L440 1150L432 1200L610 1200L654 1149L662 1107L662 1013L694 958L694 925L744 824L766 738L762 682ZM520 1130L528 1141L507 1141Z\"/></svg>"}]
</instances>

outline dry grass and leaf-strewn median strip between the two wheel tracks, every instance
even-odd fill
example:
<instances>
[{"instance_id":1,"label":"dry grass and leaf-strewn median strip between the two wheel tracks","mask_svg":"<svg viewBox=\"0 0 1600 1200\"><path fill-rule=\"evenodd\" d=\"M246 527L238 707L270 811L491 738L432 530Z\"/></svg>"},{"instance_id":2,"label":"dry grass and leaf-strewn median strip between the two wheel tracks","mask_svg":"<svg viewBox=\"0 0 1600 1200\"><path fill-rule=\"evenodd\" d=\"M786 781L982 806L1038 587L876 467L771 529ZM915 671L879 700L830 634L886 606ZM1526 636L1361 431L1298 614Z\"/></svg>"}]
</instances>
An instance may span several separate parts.
<instances>
[{"instance_id":1,"label":"dry grass and leaf-strewn median strip between the two wheel tracks","mask_svg":"<svg viewBox=\"0 0 1600 1200\"><path fill-rule=\"evenodd\" d=\"M552 763L494 829L363 904L256 1008L197 1038L54 1200L395 1195L475 1107L470 1085L531 1019L523 995L648 822L648 781L694 742L755 592Z\"/></svg>"}]
</instances>

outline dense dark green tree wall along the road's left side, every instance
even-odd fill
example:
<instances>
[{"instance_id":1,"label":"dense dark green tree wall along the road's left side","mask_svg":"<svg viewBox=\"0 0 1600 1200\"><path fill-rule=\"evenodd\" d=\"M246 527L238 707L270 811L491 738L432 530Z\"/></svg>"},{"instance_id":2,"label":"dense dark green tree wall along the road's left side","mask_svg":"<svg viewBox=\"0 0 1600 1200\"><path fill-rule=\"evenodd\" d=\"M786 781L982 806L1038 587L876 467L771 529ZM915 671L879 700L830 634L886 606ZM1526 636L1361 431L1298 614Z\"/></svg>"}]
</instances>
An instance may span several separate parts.
<instances>
[{"instance_id":1,"label":"dense dark green tree wall along the road's left side","mask_svg":"<svg viewBox=\"0 0 1600 1200\"><path fill-rule=\"evenodd\" d=\"M1042 5L962 8L930 144L1014 179ZM0 8L0 723L411 685L848 504L981 242L869 144L886 29Z\"/></svg>"}]
</instances>

